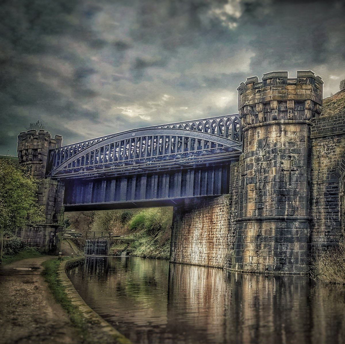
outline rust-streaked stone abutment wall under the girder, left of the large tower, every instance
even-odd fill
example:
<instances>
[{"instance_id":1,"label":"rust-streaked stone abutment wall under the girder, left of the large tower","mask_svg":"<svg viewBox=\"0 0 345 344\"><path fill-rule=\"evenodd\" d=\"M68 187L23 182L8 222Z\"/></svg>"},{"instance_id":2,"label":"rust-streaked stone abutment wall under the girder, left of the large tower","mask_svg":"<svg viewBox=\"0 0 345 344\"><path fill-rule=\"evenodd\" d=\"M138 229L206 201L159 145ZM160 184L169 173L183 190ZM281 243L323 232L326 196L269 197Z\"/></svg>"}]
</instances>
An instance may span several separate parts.
<instances>
[{"instance_id":1,"label":"rust-streaked stone abutment wall under the girder, left of the large tower","mask_svg":"<svg viewBox=\"0 0 345 344\"><path fill-rule=\"evenodd\" d=\"M235 241L238 163L230 167L230 193L188 199L174 207L170 261L224 267Z\"/></svg>"}]
</instances>

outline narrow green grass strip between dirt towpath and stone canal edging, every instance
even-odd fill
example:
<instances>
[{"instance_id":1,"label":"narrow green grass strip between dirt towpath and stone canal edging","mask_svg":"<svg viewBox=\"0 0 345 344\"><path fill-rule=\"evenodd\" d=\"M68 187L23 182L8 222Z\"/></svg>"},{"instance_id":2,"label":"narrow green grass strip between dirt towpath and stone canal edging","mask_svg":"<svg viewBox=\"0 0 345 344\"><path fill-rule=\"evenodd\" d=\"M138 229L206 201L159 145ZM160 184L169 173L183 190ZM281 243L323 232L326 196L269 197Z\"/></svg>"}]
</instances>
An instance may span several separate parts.
<instances>
[{"instance_id":1,"label":"narrow green grass strip between dirt towpath and stone canal edging","mask_svg":"<svg viewBox=\"0 0 345 344\"><path fill-rule=\"evenodd\" d=\"M75 328L77 334L82 338L83 342L89 343L89 333L87 324L83 318L79 308L73 305L65 292L65 287L61 284L58 276L58 269L61 261L58 259L50 259L43 262L44 270L42 275L48 283L49 289L55 300L61 304L69 315L71 324Z\"/></svg>"}]
</instances>

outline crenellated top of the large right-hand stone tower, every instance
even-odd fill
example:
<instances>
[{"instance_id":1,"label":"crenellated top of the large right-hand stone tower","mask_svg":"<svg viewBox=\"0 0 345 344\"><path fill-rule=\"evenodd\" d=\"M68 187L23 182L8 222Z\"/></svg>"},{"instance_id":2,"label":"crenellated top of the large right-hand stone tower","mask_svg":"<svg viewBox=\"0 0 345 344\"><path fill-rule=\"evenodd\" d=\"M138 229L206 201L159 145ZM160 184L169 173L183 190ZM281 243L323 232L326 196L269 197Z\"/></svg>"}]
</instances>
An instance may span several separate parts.
<instances>
[{"instance_id":1,"label":"crenellated top of the large right-hand stone tower","mask_svg":"<svg viewBox=\"0 0 345 344\"><path fill-rule=\"evenodd\" d=\"M238 110L244 130L249 125L271 121L310 121L321 113L321 77L312 71L269 72L242 82L238 90Z\"/></svg>"}]
</instances>

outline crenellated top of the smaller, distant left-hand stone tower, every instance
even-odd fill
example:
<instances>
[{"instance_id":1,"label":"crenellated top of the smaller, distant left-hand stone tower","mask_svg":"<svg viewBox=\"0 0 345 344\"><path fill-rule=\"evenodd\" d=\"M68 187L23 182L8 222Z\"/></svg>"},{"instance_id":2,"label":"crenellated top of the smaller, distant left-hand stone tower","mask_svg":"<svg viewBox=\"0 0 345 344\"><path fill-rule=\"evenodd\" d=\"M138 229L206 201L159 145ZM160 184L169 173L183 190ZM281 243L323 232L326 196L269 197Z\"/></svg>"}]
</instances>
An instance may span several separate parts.
<instances>
[{"instance_id":1,"label":"crenellated top of the smaller, distant left-hand stone tower","mask_svg":"<svg viewBox=\"0 0 345 344\"><path fill-rule=\"evenodd\" d=\"M26 166L32 176L45 178L49 150L61 147L62 136L52 139L48 131L28 130L18 135L19 163Z\"/></svg>"}]
</instances>

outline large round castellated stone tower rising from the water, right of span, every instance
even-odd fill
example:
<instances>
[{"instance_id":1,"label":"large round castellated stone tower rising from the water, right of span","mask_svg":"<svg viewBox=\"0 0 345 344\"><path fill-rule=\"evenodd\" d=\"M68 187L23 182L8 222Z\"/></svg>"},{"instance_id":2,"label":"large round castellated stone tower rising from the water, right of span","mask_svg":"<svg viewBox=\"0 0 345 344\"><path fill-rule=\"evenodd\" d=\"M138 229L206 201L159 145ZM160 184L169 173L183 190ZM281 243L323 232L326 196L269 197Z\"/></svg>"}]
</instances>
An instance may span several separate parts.
<instances>
[{"instance_id":1,"label":"large round castellated stone tower rising from the water, right of span","mask_svg":"<svg viewBox=\"0 0 345 344\"><path fill-rule=\"evenodd\" d=\"M230 268L306 273L311 233L311 125L322 84L311 71L248 78L238 90L244 151Z\"/></svg>"}]
</instances>

